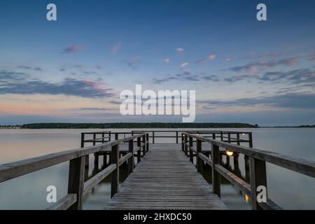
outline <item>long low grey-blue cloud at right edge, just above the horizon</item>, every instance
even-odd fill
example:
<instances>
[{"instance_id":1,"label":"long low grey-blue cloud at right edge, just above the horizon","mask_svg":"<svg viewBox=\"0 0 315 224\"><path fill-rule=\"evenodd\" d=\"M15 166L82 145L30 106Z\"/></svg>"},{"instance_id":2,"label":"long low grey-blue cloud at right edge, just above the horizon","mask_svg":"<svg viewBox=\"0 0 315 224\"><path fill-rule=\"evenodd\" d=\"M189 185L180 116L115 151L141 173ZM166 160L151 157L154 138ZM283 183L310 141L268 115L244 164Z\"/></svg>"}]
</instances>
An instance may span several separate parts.
<instances>
[{"instance_id":1,"label":"long low grey-blue cloud at right edge, just above the horizon","mask_svg":"<svg viewBox=\"0 0 315 224\"><path fill-rule=\"evenodd\" d=\"M197 104L204 104L204 109L214 109L226 106L272 106L281 109L315 109L314 93L288 93L272 97L241 98L231 101L206 100L197 101Z\"/></svg>"}]
</instances>

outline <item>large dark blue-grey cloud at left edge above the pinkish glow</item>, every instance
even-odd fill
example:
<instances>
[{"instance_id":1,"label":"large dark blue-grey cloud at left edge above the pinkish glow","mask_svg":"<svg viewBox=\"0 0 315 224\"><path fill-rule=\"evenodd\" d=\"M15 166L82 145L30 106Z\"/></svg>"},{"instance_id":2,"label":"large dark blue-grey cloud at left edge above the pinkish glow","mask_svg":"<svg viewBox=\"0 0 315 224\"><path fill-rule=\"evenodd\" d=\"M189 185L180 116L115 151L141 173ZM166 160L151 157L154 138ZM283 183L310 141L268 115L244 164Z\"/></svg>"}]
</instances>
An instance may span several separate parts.
<instances>
[{"instance_id":1,"label":"large dark blue-grey cloud at left edge above the pinkish glow","mask_svg":"<svg viewBox=\"0 0 315 224\"><path fill-rule=\"evenodd\" d=\"M77 97L111 97L112 89L89 79L65 78L61 83L48 83L26 73L0 71L0 94L64 94Z\"/></svg>"}]
</instances>

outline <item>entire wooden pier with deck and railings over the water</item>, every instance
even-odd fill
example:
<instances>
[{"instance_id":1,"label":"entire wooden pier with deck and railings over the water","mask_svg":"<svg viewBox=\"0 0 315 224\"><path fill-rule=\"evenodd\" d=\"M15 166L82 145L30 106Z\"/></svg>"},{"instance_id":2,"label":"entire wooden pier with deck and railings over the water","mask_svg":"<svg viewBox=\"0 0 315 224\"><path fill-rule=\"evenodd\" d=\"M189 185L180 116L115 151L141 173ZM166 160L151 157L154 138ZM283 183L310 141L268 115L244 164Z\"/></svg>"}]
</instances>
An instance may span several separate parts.
<instances>
[{"instance_id":1,"label":"entire wooden pier with deck and railings over the water","mask_svg":"<svg viewBox=\"0 0 315 224\"><path fill-rule=\"evenodd\" d=\"M175 142L156 142L165 139ZM239 155L244 155L245 179L230 170L230 158L237 167ZM222 181L247 195L252 209L281 209L269 197L257 200L258 187L267 190L266 162L315 178L314 161L255 149L251 132L137 130L82 133L81 148L0 165L0 183L67 161L68 194L49 209L82 209L84 195L107 176L111 200L105 209L227 209L220 198ZM129 176L120 186L123 165ZM91 166L96 172L89 176Z\"/></svg>"}]
</instances>

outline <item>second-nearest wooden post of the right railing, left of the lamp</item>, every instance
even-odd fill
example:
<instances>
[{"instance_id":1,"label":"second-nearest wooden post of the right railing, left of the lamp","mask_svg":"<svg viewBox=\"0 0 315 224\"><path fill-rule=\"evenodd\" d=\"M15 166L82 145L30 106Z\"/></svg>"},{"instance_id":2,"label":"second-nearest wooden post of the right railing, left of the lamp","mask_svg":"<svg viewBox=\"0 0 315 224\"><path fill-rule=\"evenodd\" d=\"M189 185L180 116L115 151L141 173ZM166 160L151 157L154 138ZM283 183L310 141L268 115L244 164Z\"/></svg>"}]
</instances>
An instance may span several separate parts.
<instances>
[{"instance_id":1,"label":"second-nearest wooden post of the right railing, left of the lamp","mask_svg":"<svg viewBox=\"0 0 315 224\"><path fill-rule=\"evenodd\" d=\"M212 145L212 191L221 197L221 180L220 174L216 171L216 165L220 164L220 148Z\"/></svg>"}]
</instances>

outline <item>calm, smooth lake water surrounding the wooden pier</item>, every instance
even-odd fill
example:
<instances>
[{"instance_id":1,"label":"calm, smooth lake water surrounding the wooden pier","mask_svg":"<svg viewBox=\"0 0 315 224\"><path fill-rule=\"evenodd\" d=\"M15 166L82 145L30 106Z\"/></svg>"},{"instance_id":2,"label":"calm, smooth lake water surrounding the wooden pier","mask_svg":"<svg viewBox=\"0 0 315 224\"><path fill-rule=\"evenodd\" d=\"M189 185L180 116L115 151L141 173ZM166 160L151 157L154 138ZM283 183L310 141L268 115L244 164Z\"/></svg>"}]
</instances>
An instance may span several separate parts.
<instances>
[{"instance_id":1,"label":"calm, smooth lake water surrounding the wooden pier","mask_svg":"<svg viewBox=\"0 0 315 224\"><path fill-rule=\"evenodd\" d=\"M254 148L315 160L315 129L220 130L253 132ZM101 130L0 130L0 164L79 148L80 132L94 131ZM113 132L129 131L113 130ZM167 141L174 142L174 139ZM240 156L239 169L241 175L244 176L244 162L242 161ZM92 156L90 156L90 165L93 165ZM47 186L56 186L57 200L64 197L66 195L68 169L69 162L64 162L0 183L0 209L45 209L49 207L50 204L46 202L47 192L45 190ZM122 172L124 171L122 170ZM90 166L91 173L92 166ZM106 202L110 199L111 187L109 183L109 180L105 179L85 195L83 209L104 209ZM284 209L315 209L315 179L309 176L267 164L267 187L269 198ZM229 209L251 208L244 195L228 183L221 186L221 197Z\"/></svg>"}]
</instances>

